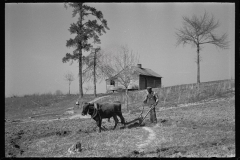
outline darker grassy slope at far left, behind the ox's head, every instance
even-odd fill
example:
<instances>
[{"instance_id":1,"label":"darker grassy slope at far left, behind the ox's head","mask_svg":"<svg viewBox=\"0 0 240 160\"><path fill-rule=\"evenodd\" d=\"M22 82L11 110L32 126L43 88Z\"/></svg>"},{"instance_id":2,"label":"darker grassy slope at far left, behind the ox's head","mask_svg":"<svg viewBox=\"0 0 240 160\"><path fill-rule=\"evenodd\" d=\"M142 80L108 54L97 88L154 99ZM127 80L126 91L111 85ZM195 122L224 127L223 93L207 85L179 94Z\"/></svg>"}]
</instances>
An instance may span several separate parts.
<instances>
[{"instance_id":1,"label":"darker grassy slope at far left, behind the ox's head","mask_svg":"<svg viewBox=\"0 0 240 160\"><path fill-rule=\"evenodd\" d=\"M80 103L93 99L93 95L86 95ZM17 121L37 117L61 117L69 108L76 107L77 100L78 95L52 94L5 98L5 119Z\"/></svg>"}]
</instances>

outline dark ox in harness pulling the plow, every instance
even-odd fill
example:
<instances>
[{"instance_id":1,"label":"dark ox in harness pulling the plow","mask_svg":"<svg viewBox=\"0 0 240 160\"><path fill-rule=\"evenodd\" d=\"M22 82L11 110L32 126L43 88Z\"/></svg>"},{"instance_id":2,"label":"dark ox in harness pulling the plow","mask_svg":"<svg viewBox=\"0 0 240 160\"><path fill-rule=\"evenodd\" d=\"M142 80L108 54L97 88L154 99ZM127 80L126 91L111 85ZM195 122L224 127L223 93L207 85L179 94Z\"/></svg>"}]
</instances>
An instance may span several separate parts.
<instances>
[{"instance_id":1,"label":"dark ox in harness pulling the plow","mask_svg":"<svg viewBox=\"0 0 240 160\"><path fill-rule=\"evenodd\" d=\"M122 111L121 111L121 103L119 101L113 102L113 103L84 103L83 105L83 111L82 115L91 115L91 117L96 121L97 126L99 127L99 132L101 132L101 124L102 124L102 119L108 118L110 119L113 117L115 121L114 128L116 128L118 124L118 118L117 116L121 119L121 123L125 127L125 120L124 117L122 116Z\"/></svg>"}]
</instances>

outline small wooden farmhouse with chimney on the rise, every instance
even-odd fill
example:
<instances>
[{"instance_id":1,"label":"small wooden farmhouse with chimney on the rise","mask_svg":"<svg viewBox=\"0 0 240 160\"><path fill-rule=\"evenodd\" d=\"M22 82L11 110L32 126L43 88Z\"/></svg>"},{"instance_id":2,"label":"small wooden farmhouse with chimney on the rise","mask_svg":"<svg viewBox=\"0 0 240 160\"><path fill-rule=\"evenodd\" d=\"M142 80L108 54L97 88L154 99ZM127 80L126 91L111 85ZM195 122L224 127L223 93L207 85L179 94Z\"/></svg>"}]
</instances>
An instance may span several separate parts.
<instances>
[{"instance_id":1,"label":"small wooden farmhouse with chimney on the rise","mask_svg":"<svg viewBox=\"0 0 240 160\"><path fill-rule=\"evenodd\" d=\"M148 68L143 68L141 64L132 66L133 78L130 81L128 90L142 90L147 87L160 88L162 85L162 76ZM124 86L119 82L119 74L106 79L106 91L116 91L124 89Z\"/></svg>"}]
</instances>

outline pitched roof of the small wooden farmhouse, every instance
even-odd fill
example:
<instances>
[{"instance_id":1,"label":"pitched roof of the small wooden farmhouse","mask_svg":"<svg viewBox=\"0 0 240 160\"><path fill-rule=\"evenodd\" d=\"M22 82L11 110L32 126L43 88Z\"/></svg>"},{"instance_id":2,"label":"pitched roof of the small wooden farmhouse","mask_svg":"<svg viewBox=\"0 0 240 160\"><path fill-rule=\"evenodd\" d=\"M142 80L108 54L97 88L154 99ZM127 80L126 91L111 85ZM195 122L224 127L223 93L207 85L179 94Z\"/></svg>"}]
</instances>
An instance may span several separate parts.
<instances>
[{"instance_id":1,"label":"pitched roof of the small wooden farmhouse","mask_svg":"<svg viewBox=\"0 0 240 160\"><path fill-rule=\"evenodd\" d=\"M159 75L158 73L154 72L153 70L149 69L149 68L139 68L137 66L132 66L132 69L134 69L135 73L137 73L138 75L144 75L144 76L152 76L152 77L158 77L158 78L162 78L161 75ZM123 70L122 70L123 71ZM122 72L120 71L120 72ZM119 72L119 73L120 73ZM118 73L118 74L119 74ZM111 77L111 78L108 78L106 80L109 80L109 79L115 79L118 74L116 74L115 76Z\"/></svg>"}]
</instances>

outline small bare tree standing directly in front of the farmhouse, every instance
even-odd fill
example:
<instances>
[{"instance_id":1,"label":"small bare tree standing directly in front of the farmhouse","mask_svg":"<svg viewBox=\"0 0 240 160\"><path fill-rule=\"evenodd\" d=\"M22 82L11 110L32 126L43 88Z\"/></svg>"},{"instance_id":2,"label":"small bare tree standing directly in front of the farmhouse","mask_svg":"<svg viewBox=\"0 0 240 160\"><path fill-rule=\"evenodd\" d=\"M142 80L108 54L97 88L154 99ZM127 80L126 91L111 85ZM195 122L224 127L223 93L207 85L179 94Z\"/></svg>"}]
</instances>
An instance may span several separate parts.
<instances>
[{"instance_id":1,"label":"small bare tree standing directly in front of the farmhouse","mask_svg":"<svg viewBox=\"0 0 240 160\"><path fill-rule=\"evenodd\" d=\"M103 68L110 72L106 72L105 75L109 78L115 76L117 81L125 88L125 103L128 110L128 87L136 79L133 66L136 66L139 62L139 56L125 45L121 46L117 54L107 55L106 57L107 60L105 59Z\"/></svg>"}]
</instances>

